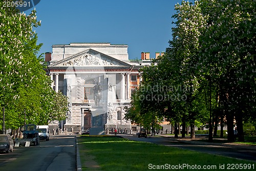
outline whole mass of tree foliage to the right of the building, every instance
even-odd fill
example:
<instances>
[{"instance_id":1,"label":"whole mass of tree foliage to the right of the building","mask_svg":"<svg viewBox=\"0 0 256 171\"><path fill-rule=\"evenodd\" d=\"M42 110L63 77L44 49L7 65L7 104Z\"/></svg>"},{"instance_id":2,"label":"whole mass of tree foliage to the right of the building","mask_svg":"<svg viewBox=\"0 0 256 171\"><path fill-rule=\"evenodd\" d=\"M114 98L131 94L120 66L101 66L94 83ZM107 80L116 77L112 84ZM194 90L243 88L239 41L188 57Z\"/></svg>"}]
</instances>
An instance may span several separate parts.
<instances>
[{"instance_id":1,"label":"whole mass of tree foliage to the right of the building","mask_svg":"<svg viewBox=\"0 0 256 171\"><path fill-rule=\"evenodd\" d=\"M227 123L229 136L235 118L242 135L243 121L256 120L255 8L253 0L175 5L173 39L165 55L141 70L138 96L149 87L143 96L157 98L132 103L133 110L140 115L154 110L168 121L198 125L215 118Z\"/></svg>"}]
</instances>

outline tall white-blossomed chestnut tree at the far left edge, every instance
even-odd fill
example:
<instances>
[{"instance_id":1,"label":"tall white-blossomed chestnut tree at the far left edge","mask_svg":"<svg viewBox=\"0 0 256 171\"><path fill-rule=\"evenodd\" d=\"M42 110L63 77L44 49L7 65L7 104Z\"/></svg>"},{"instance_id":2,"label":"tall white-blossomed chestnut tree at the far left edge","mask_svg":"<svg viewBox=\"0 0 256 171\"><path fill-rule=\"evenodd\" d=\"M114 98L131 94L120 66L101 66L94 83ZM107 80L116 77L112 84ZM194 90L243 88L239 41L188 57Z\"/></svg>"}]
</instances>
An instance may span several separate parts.
<instances>
[{"instance_id":1,"label":"tall white-blossomed chestnut tree at the far left edge","mask_svg":"<svg viewBox=\"0 0 256 171\"><path fill-rule=\"evenodd\" d=\"M0 2L0 7L0 106L7 109L8 128L20 124L15 110L17 100L20 93L28 88L28 82L36 78L29 62L34 63L35 54L41 46L36 45L37 36L32 31L40 22L36 21L34 10L26 16L15 8L3 7L3 2Z\"/></svg>"}]
</instances>

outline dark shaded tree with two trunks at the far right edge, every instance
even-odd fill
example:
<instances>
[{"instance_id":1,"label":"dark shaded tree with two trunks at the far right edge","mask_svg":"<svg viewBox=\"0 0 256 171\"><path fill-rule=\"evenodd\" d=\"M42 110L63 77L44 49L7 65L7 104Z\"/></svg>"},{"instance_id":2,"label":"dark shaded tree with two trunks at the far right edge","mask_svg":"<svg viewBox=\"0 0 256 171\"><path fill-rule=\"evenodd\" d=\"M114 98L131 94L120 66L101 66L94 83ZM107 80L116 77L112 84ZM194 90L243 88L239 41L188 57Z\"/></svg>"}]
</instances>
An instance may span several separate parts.
<instances>
[{"instance_id":1,"label":"dark shaded tree with two trunks at the far right edge","mask_svg":"<svg viewBox=\"0 0 256 171\"><path fill-rule=\"evenodd\" d=\"M200 1L208 25L201 36L203 72L219 85L228 140L233 123L243 141L243 119L254 115L255 100L255 1Z\"/></svg>"}]
</instances>

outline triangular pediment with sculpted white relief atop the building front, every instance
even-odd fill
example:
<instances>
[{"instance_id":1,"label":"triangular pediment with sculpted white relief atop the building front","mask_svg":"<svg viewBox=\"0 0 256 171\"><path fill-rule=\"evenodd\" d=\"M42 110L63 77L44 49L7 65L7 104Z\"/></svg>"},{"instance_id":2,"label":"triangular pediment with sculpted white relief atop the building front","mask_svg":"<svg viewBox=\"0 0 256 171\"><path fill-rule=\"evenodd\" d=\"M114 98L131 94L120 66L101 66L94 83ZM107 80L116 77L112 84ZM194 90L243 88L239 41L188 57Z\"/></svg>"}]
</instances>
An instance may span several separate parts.
<instances>
[{"instance_id":1,"label":"triangular pediment with sculpted white relief atop the building front","mask_svg":"<svg viewBox=\"0 0 256 171\"><path fill-rule=\"evenodd\" d=\"M89 49L52 63L49 67L131 67L130 64Z\"/></svg>"}]
</instances>

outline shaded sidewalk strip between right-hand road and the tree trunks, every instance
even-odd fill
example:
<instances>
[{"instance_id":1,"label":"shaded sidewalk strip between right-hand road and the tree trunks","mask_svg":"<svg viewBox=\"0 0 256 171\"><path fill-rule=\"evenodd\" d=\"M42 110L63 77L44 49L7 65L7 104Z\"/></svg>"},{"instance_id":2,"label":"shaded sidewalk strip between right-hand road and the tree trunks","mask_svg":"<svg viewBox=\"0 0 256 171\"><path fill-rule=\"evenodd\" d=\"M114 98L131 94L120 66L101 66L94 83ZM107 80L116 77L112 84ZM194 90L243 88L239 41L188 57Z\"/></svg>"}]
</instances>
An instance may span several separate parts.
<instances>
[{"instance_id":1,"label":"shaded sidewalk strip between right-hand road and the tree trunks","mask_svg":"<svg viewBox=\"0 0 256 171\"><path fill-rule=\"evenodd\" d=\"M170 138L172 141L179 141L183 143L199 144L199 145L219 145L219 146L229 146L229 147L238 147L256 150L256 145L240 144L237 142L226 142L226 143L217 143L217 142L206 142L207 137L196 137L195 139L186 138L174 138L172 135L157 135L161 137ZM214 140L225 140L223 138L214 138Z\"/></svg>"}]
</instances>

